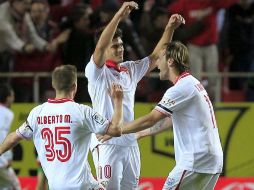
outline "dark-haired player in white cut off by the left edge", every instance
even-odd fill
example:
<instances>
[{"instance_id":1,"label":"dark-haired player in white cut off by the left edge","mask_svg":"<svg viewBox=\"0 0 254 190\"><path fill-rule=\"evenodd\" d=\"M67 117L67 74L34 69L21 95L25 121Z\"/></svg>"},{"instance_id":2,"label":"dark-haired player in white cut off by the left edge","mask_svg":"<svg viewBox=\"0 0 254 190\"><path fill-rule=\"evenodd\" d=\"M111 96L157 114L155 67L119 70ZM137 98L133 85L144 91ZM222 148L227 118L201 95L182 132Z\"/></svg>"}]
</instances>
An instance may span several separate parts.
<instances>
[{"instance_id":1,"label":"dark-haired player in white cut off by the left edge","mask_svg":"<svg viewBox=\"0 0 254 190\"><path fill-rule=\"evenodd\" d=\"M10 107L14 102L14 91L7 84L0 84L0 143L8 135L13 121ZM11 167L12 151L0 157L0 189L21 189L19 180Z\"/></svg>"}]
</instances>

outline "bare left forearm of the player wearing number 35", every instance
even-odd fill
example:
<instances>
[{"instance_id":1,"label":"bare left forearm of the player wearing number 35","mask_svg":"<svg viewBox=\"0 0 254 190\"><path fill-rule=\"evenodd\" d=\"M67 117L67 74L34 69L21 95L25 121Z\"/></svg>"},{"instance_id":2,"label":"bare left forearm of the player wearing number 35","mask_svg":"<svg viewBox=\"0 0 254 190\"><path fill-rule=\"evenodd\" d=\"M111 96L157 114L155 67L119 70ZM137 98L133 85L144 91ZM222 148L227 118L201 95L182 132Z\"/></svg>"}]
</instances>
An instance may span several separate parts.
<instances>
[{"instance_id":1,"label":"bare left forearm of the player wearing number 35","mask_svg":"<svg viewBox=\"0 0 254 190\"><path fill-rule=\"evenodd\" d=\"M15 131L10 133L0 145L0 155L16 146L22 139Z\"/></svg>"}]
</instances>

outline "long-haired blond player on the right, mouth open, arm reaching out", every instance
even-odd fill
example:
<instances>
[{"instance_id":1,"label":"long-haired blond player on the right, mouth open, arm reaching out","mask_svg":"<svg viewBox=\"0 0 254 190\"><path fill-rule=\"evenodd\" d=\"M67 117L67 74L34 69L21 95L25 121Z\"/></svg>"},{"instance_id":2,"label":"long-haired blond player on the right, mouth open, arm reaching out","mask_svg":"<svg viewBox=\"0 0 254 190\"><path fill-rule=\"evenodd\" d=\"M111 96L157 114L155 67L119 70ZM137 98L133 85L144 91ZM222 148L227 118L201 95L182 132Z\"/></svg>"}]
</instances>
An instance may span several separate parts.
<instances>
[{"instance_id":1,"label":"long-haired blond player on the right, mouth open, arm reaching out","mask_svg":"<svg viewBox=\"0 0 254 190\"><path fill-rule=\"evenodd\" d=\"M180 42L171 42L158 59L160 79L169 80L162 100L147 115L123 126L123 134L141 131L165 119L161 126L174 131L176 166L163 190L214 189L222 171L223 152L213 106L202 84L189 74L189 54ZM156 129L157 130L157 129Z\"/></svg>"}]
</instances>

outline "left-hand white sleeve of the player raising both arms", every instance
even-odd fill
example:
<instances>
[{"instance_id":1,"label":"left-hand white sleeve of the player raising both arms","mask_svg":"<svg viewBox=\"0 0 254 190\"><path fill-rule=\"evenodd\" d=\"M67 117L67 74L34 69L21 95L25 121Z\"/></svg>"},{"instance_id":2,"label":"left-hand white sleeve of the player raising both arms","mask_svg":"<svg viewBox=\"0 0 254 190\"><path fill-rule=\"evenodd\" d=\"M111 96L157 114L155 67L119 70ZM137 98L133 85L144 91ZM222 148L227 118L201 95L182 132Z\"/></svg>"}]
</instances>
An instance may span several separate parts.
<instances>
[{"instance_id":1,"label":"left-hand white sleeve of the player raising both arms","mask_svg":"<svg viewBox=\"0 0 254 190\"><path fill-rule=\"evenodd\" d=\"M104 69L104 65L101 68L97 67L97 65L95 64L93 60L93 55L92 55L90 61L86 65L85 76L89 82L95 82L98 79L101 72L103 72L103 69Z\"/></svg>"}]
</instances>

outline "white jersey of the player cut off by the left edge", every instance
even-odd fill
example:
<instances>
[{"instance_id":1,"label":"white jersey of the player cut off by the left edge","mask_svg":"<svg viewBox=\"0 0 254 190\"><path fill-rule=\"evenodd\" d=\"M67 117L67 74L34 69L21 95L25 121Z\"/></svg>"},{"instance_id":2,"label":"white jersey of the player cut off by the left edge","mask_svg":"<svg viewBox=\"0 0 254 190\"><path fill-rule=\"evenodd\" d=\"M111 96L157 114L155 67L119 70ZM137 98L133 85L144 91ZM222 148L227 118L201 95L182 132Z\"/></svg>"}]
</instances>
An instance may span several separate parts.
<instances>
[{"instance_id":1,"label":"white jersey of the player cut off by the left edge","mask_svg":"<svg viewBox=\"0 0 254 190\"><path fill-rule=\"evenodd\" d=\"M0 104L0 143L2 143L8 135L13 117L13 112L9 108ZM11 159L11 150L0 156L0 168L5 168L8 165L8 160Z\"/></svg>"}]
</instances>

